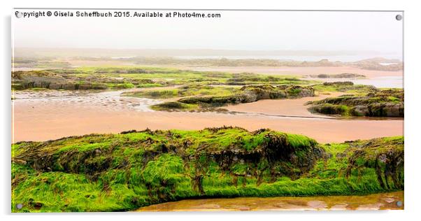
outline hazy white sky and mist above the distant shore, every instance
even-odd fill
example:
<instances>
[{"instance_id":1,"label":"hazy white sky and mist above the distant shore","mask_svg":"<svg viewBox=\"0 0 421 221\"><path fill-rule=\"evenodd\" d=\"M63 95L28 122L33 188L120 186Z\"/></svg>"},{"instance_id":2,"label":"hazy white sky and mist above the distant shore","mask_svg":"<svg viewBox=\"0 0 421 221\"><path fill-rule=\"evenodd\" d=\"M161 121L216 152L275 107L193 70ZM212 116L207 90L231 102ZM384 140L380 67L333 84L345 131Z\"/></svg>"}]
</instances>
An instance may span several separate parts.
<instances>
[{"instance_id":1,"label":"hazy white sky and mist above the distant shore","mask_svg":"<svg viewBox=\"0 0 421 221\"><path fill-rule=\"evenodd\" d=\"M138 12L143 11L138 10ZM172 11L160 10L160 12ZM186 58L225 55L233 58L255 56L273 59L317 56L317 58L350 60L369 57L401 59L402 56L403 21L395 19L399 12L204 11L204 13L220 13L221 17L16 18L13 16L13 46L17 49L120 49L113 51L120 51L121 56L143 53ZM134 49L152 50L136 52ZM76 55L89 54L86 53L87 50L77 51ZM101 50L99 54L104 52L106 50Z\"/></svg>"}]
</instances>

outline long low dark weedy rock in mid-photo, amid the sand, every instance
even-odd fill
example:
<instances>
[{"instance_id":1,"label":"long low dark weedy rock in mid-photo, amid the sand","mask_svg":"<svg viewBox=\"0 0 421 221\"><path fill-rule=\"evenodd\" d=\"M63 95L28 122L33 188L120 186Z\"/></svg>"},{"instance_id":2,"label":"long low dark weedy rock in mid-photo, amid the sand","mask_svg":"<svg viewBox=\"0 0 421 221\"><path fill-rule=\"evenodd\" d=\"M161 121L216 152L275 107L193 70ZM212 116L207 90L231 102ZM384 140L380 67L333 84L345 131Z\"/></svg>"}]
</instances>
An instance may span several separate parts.
<instances>
[{"instance_id":1,"label":"long low dark weedy rock in mid-photo, amid the sand","mask_svg":"<svg viewBox=\"0 0 421 221\"><path fill-rule=\"evenodd\" d=\"M178 102L194 104L197 105L197 110L206 110L227 104L251 103L262 99L288 99L313 96L313 87L301 87L297 85L247 85L241 87L238 92L230 95L185 97L178 99ZM152 109L154 108L157 108L157 106L152 106Z\"/></svg>"}]
</instances>

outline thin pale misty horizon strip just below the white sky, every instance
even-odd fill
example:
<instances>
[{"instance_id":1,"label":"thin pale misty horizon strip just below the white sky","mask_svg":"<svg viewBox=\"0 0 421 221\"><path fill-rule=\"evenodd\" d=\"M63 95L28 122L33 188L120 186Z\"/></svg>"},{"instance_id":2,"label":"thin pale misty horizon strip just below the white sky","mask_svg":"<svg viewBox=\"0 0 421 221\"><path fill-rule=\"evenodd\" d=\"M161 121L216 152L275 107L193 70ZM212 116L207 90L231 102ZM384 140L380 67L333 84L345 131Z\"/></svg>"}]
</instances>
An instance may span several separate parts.
<instances>
[{"instance_id":1,"label":"thin pale misty horizon strip just below the white sky","mask_svg":"<svg viewBox=\"0 0 421 221\"><path fill-rule=\"evenodd\" d=\"M219 50L219 49L113 49L113 48L14 48L15 57L176 57L184 59L277 59L296 61L355 62L362 59L398 59L394 53L358 50Z\"/></svg>"}]
</instances>

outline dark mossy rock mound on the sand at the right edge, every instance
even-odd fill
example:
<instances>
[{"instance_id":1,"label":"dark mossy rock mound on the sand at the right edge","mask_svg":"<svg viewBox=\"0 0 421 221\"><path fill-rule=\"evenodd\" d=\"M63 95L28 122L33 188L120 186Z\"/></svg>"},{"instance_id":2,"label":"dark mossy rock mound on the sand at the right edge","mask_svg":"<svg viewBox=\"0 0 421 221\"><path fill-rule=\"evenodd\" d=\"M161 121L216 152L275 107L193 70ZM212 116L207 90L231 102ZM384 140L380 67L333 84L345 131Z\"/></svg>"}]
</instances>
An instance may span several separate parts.
<instances>
[{"instance_id":1,"label":"dark mossy rock mound on the sand at the right edge","mask_svg":"<svg viewBox=\"0 0 421 221\"><path fill-rule=\"evenodd\" d=\"M366 117L404 117L404 90L379 90L308 102L311 112Z\"/></svg>"}]
</instances>

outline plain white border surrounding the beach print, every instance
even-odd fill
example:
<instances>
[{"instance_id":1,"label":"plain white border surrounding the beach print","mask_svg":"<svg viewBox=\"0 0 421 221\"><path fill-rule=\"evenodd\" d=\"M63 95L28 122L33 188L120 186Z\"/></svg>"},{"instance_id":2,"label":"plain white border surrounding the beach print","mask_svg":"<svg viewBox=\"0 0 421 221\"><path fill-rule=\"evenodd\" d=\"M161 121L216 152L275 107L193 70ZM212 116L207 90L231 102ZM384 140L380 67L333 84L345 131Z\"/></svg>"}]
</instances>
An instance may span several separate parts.
<instances>
[{"instance_id":1,"label":"plain white border surrounding the beach print","mask_svg":"<svg viewBox=\"0 0 421 221\"><path fill-rule=\"evenodd\" d=\"M3 31L1 31L1 216L6 220L75 220L92 219L99 216L99 219L115 220L118 215L124 215L124 219L165 219L165 220L215 220L215 219L236 219L236 220L409 220L414 219L421 211L420 205L420 178L418 168L420 167L421 146L418 143L420 134L421 106L420 88L421 83L421 56L420 56L420 21L421 7L417 1L328 1L328 0L294 0L294 1L227 1L213 0L199 2L187 1L29 1L15 0L10 2L2 1L1 18ZM328 212L230 212L230 213L66 213L48 215L15 215L10 214L10 58L11 58L11 37L10 37L10 14L12 8L235 8L235 9L291 9L291 10L404 10L405 20L405 94L406 94L406 120L405 120L405 211L328 211ZM264 215L264 216L262 216ZM95 217L94 217L95 216ZM418 218L419 219L419 218Z\"/></svg>"}]
</instances>

